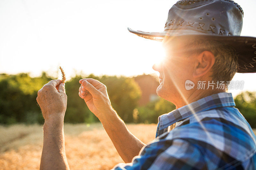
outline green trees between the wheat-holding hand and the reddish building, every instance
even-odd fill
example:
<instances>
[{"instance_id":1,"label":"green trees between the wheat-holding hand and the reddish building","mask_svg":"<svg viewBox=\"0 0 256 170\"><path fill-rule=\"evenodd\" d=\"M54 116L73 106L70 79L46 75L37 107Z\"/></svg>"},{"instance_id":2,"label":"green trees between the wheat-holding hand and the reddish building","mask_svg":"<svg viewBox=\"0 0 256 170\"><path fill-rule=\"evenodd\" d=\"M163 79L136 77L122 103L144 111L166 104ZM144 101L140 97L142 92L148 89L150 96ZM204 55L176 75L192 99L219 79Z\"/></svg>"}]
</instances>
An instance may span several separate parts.
<instances>
[{"instance_id":1,"label":"green trees between the wheat-holding hand and the reddish building","mask_svg":"<svg viewBox=\"0 0 256 170\"><path fill-rule=\"evenodd\" d=\"M140 99L139 86L132 78L102 76L97 77L93 74L85 78L94 78L107 86L108 95L112 106L116 109L119 116L125 122L133 122L132 111L137 106ZM78 96L79 80L81 76L76 76L65 85L68 95L68 106L65 115L65 122L97 122L98 118L88 109L84 100Z\"/></svg>"}]
</instances>

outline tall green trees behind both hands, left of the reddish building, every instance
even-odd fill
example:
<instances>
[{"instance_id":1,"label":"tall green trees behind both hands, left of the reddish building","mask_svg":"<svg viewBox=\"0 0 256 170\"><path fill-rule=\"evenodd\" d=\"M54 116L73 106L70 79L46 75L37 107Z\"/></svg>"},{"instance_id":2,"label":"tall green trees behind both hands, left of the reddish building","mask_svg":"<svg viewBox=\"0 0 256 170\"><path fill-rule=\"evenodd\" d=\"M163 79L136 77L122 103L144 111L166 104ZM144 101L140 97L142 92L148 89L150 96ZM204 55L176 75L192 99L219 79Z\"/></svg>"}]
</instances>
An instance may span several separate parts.
<instances>
[{"instance_id":1,"label":"tall green trees behind both hands, left of the reddish building","mask_svg":"<svg viewBox=\"0 0 256 170\"><path fill-rule=\"evenodd\" d=\"M86 77L83 77L86 78ZM132 78L102 76L93 74L87 78L94 78L103 82L108 89L108 94L113 107L125 122L133 122L132 111L140 99L140 88ZM36 102L37 91L49 82L51 77L42 73L41 77L31 78L28 74L0 75L0 123L11 124L16 122L43 123L40 107ZM66 82L68 106L65 122L92 123L99 121L91 113L84 100L78 96L79 80L82 76L76 75Z\"/></svg>"}]
</instances>

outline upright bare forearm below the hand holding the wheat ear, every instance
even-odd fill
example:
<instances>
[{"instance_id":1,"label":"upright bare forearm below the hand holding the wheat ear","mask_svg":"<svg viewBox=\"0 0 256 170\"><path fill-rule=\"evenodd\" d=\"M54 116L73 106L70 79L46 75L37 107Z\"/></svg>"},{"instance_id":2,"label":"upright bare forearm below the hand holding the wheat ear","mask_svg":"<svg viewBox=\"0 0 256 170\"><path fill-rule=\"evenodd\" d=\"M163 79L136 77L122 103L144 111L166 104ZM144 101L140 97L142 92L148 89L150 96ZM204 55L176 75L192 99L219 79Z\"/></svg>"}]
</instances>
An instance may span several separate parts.
<instances>
[{"instance_id":1,"label":"upright bare forearm below the hand holding the wheat ear","mask_svg":"<svg viewBox=\"0 0 256 170\"><path fill-rule=\"evenodd\" d=\"M40 169L69 169L62 122L44 123L44 145Z\"/></svg>"}]
</instances>

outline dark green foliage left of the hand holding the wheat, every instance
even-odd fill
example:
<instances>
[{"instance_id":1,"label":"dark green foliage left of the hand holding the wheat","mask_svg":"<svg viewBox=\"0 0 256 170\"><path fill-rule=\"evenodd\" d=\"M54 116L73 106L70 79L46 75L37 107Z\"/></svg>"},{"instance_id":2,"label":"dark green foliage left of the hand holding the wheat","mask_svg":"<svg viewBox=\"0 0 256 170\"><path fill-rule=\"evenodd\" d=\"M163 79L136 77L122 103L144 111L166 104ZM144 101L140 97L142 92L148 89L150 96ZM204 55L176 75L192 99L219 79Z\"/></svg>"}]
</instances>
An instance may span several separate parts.
<instances>
[{"instance_id":1,"label":"dark green foliage left of the hand holding the wheat","mask_svg":"<svg viewBox=\"0 0 256 170\"><path fill-rule=\"evenodd\" d=\"M0 75L0 123L43 122L37 106L37 91L51 78L42 73L41 77L31 78L28 74ZM31 117L30 117L30 116Z\"/></svg>"}]
</instances>

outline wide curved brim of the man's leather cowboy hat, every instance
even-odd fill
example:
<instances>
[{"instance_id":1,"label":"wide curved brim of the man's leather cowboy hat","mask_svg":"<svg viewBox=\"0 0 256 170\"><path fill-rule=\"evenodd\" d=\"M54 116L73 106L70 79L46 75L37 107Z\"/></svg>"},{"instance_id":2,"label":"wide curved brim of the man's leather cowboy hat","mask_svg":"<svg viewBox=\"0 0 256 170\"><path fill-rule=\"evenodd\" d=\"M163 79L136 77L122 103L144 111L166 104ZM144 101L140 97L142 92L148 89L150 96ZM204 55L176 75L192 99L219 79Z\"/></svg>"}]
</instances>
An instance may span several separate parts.
<instances>
[{"instance_id":1,"label":"wide curved brim of the man's leather cowboy hat","mask_svg":"<svg viewBox=\"0 0 256 170\"><path fill-rule=\"evenodd\" d=\"M196 32L193 30L182 30L178 32L177 30L174 33L170 32L143 32L135 31L131 28L127 28L129 32L134 33L140 37L155 40L163 41L164 38L169 37L195 37L198 39L211 39L220 42L224 42L226 45L236 49L238 53L238 64L239 67L236 72L238 73L255 73L256 72L256 38L255 37L244 37L244 36L223 36L223 35L214 35L214 34L205 34ZM191 32L192 31L192 32Z\"/></svg>"}]
</instances>

